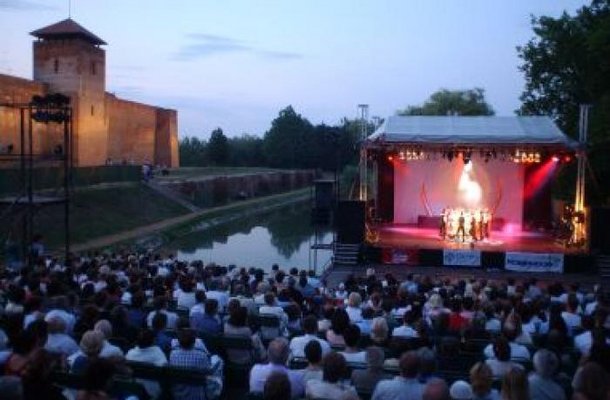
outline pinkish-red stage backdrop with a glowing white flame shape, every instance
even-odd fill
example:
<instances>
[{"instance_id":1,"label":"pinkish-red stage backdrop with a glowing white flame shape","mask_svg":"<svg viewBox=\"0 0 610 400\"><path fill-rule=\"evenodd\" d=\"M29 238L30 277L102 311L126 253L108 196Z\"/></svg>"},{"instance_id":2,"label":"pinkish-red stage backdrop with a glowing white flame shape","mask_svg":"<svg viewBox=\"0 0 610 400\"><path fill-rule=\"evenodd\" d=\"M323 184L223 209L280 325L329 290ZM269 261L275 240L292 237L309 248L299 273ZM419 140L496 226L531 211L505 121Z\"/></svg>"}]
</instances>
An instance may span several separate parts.
<instances>
[{"instance_id":1,"label":"pinkish-red stage backdrop with a glowing white flame shape","mask_svg":"<svg viewBox=\"0 0 610 400\"><path fill-rule=\"evenodd\" d=\"M461 158L448 162L394 160L394 222L416 224L420 215L439 215L444 207L487 207L507 231L521 230L522 164L473 155L470 167Z\"/></svg>"}]
</instances>

